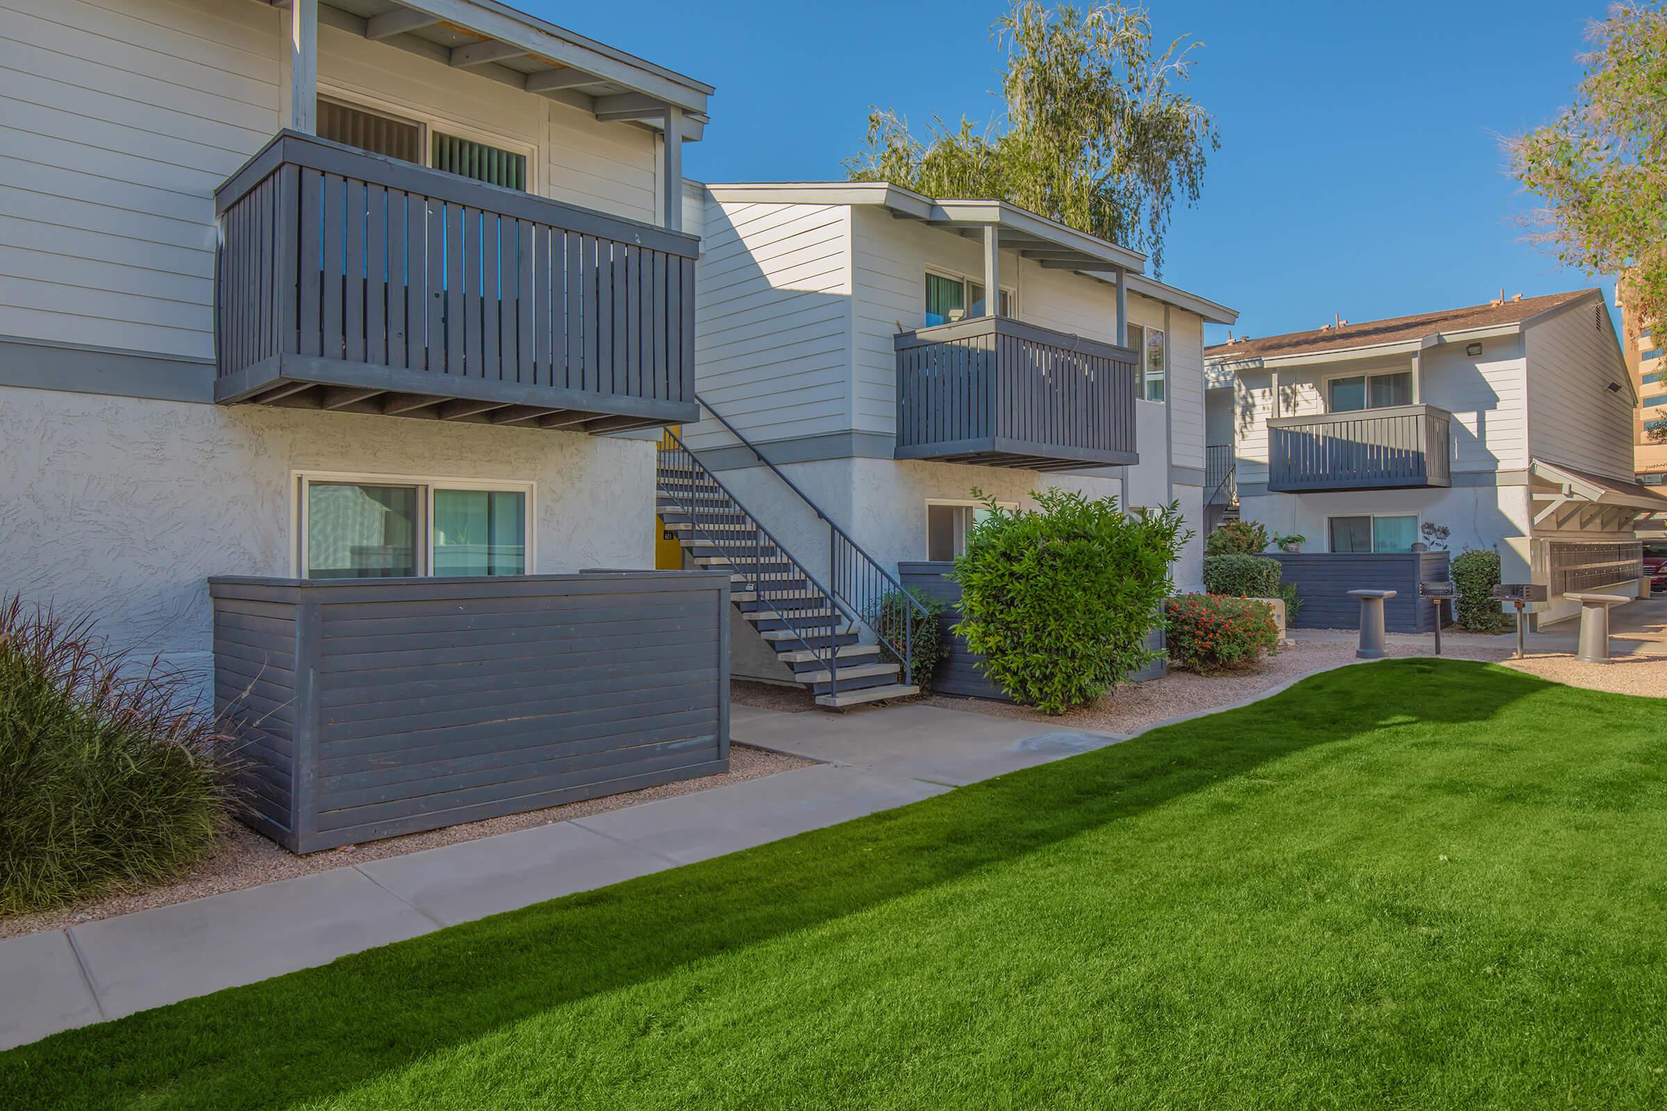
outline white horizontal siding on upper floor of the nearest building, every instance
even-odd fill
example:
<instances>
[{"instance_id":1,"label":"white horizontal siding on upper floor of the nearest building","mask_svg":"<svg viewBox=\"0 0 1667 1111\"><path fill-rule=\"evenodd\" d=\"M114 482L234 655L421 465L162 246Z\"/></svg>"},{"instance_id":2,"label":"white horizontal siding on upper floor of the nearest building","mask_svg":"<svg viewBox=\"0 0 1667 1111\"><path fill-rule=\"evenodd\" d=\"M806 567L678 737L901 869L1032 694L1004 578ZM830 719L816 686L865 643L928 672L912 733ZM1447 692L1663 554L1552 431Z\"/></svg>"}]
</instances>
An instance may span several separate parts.
<instances>
[{"instance_id":1,"label":"white horizontal siding on upper floor of the nearest building","mask_svg":"<svg viewBox=\"0 0 1667 1111\"><path fill-rule=\"evenodd\" d=\"M228 0L0 0L0 333L213 355L213 188L287 115L287 18ZM648 130L335 27L318 28L318 78L535 147L540 193L655 220Z\"/></svg>"}]
</instances>

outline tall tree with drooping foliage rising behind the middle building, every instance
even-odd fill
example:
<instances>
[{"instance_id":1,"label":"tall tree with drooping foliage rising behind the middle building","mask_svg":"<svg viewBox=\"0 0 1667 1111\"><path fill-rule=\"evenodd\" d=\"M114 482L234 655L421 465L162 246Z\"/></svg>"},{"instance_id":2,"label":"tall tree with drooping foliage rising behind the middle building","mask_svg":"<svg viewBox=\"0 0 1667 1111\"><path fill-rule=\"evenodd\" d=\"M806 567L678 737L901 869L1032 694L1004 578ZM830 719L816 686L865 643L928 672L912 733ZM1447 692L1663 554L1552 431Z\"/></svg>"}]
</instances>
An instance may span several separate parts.
<instances>
[{"instance_id":1,"label":"tall tree with drooping foliage rising behind the middle building","mask_svg":"<svg viewBox=\"0 0 1667 1111\"><path fill-rule=\"evenodd\" d=\"M984 128L934 120L917 137L875 108L867 147L845 162L850 180L1007 200L1144 250L1160 272L1170 212L1177 198L1199 200L1205 158L1220 148L1210 113L1180 90L1200 43L1177 38L1154 53L1147 13L1115 0L1087 10L1020 0L990 32L1007 57L1005 110Z\"/></svg>"}]
</instances>

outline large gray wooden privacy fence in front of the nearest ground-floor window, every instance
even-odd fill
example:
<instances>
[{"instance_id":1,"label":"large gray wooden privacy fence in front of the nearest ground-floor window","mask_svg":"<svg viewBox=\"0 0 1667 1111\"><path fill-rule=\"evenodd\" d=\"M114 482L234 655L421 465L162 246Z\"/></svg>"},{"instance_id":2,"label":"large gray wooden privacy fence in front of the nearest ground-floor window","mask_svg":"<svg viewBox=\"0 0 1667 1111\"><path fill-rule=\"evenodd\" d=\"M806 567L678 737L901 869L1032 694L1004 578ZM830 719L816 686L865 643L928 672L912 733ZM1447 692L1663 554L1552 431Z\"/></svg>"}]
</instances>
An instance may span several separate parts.
<instances>
[{"instance_id":1,"label":"large gray wooden privacy fence in front of the nearest ground-floor window","mask_svg":"<svg viewBox=\"0 0 1667 1111\"><path fill-rule=\"evenodd\" d=\"M728 768L728 575L210 578L245 821L295 853Z\"/></svg>"}]
</instances>

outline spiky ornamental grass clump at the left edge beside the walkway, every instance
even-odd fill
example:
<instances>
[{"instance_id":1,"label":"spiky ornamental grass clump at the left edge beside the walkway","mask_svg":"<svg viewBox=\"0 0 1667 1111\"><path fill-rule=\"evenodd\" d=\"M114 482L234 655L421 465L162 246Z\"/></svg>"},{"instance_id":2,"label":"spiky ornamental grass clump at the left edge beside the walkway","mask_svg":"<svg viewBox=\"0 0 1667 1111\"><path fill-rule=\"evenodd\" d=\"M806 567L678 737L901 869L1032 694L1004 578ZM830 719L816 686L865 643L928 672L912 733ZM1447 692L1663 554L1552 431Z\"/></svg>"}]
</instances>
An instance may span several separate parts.
<instances>
[{"instance_id":1,"label":"spiky ornamental grass clump at the left edge beside the walkway","mask_svg":"<svg viewBox=\"0 0 1667 1111\"><path fill-rule=\"evenodd\" d=\"M180 693L100 651L90 620L0 603L0 914L168 879L212 848L223 738Z\"/></svg>"}]
</instances>

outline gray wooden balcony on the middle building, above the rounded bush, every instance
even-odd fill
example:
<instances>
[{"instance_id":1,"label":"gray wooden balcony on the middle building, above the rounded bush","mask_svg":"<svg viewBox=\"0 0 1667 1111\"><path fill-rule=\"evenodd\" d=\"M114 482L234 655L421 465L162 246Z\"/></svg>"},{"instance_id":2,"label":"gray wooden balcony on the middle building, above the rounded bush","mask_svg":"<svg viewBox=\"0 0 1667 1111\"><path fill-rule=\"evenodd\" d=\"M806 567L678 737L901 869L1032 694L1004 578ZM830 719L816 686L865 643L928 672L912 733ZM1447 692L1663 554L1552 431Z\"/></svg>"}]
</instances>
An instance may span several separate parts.
<instances>
[{"instance_id":1,"label":"gray wooden balcony on the middle building, above the rounded bush","mask_svg":"<svg viewBox=\"0 0 1667 1111\"><path fill-rule=\"evenodd\" d=\"M977 316L897 336L900 460L1072 470L1137 463L1135 353Z\"/></svg>"}]
</instances>

